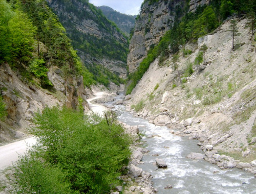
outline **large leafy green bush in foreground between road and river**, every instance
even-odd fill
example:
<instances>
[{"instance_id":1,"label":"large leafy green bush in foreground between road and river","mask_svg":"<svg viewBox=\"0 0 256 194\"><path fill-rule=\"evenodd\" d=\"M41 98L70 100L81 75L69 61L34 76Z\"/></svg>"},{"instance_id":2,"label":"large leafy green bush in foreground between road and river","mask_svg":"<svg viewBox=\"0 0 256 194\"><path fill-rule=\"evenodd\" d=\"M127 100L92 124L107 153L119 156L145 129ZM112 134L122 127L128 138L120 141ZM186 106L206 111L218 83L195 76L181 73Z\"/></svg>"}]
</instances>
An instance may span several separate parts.
<instances>
[{"instance_id":1,"label":"large leafy green bush in foreground between road and river","mask_svg":"<svg viewBox=\"0 0 256 194\"><path fill-rule=\"evenodd\" d=\"M18 189L102 193L121 184L117 177L129 162L131 139L116 122L53 107L37 113L35 124L38 144L17 163Z\"/></svg>"}]
</instances>

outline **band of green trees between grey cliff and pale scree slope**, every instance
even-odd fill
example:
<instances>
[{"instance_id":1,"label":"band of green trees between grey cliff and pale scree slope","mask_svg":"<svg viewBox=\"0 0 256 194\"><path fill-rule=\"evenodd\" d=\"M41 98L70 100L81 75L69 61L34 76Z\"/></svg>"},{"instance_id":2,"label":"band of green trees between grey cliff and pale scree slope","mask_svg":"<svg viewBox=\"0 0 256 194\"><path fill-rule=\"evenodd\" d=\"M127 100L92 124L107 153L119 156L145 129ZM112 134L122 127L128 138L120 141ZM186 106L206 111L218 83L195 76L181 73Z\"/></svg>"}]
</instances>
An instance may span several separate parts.
<instances>
[{"instance_id":1,"label":"band of green trees between grey cliff and pale scree slope","mask_svg":"<svg viewBox=\"0 0 256 194\"><path fill-rule=\"evenodd\" d=\"M144 1L148 2L148 1ZM154 4L158 1L150 1L150 4ZM196 12L188 12L188 6L182 10L183 17L180 15L177 9L175 15L175 21L172 29L167 31L163 37L161 37L159 44L151 46L150 51L147 53L147 57L140 63L138 69L129 75L130 85L127 88L126 94L130 94L139 80L142 78L150 64L159 57L159 64L168 57L169 54L175 54L179 51L180 45L184 45L188 41L196 41L199 37L206 35L207 33L215 30L222 21L228 16L236 13L238 16L247 14L250 18L249 26L254 29L255 25L255 1L226 1L215 0L210 1L209 5L205 5L197 8ZM143 3L143 4L144 4Z\"/></svg>"}]
</instances>

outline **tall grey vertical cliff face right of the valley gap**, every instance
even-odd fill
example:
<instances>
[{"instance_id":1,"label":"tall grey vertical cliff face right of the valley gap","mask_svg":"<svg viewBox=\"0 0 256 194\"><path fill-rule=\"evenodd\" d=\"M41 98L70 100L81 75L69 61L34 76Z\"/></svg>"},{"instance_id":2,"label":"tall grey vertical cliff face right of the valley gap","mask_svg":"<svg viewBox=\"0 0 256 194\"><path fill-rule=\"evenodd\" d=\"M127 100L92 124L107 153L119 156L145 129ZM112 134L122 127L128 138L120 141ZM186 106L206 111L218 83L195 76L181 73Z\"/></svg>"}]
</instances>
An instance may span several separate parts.
<instances>
[{"instance_id":1,"label":"tall grey vertical cliff face right of the valley gap","mask_svg":"<svg viewBox=\"0 0 256 194\"><path fill-rule=\"evenodd\" d=\"M208 0L191 0L187 8L188 11L195 11L198 6L208 4ZM135 23L134 35L130 42L127 65L130 72L134 72L140 62L147 55L147 51L174 24L175 17L180 18L186 9L186 1L160 0L158 3L150 5L146 2L142 5L139 17Z\"/></svg>"}]
</instances>

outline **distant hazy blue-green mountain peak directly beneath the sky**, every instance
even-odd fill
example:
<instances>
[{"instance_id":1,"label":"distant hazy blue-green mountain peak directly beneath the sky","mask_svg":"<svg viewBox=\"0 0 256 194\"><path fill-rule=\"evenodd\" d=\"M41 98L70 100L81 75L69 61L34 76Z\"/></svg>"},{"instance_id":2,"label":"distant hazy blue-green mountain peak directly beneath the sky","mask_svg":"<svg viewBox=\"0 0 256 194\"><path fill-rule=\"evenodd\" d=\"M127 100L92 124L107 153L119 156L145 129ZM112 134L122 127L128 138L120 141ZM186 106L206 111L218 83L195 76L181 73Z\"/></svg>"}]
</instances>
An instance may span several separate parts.
<instances>
[{"instance_id":1,"label":"distant hazy blue-green mountain peak directly beneath the sky","mask_svg":"<svg viewBox=\"0 0 256 194\"><path fill-rule=\"evenodd\" d=\"M135 26L135 17L136 15L126 15L115 11L114 9L108 6L100 6L98 7L102 13L108 18L109 20L116 23L118 28L127 36L130 36L131 29Z\"/></svg>"}]
</instances>

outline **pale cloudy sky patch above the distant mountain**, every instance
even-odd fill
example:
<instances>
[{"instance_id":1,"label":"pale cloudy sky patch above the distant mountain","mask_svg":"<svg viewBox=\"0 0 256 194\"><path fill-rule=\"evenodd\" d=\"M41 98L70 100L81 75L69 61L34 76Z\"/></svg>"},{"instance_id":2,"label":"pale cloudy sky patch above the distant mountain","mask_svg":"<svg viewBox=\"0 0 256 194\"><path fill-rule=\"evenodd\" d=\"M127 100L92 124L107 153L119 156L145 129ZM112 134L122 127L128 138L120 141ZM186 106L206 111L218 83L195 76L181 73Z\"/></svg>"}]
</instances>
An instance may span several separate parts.
<instances>
[{"instance_id":1,"label":"pale cloudy sky patch above the distant mountain","mask_svg":"<svg viewBox=\"0 0 256 194\"><path fill-rule=\"evenodd\" d=\"M95 6L109 6L127 15L138 15L143 0L89 0Z\"/></svg>"}]
</instances>

